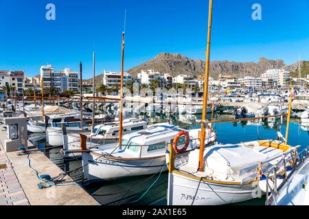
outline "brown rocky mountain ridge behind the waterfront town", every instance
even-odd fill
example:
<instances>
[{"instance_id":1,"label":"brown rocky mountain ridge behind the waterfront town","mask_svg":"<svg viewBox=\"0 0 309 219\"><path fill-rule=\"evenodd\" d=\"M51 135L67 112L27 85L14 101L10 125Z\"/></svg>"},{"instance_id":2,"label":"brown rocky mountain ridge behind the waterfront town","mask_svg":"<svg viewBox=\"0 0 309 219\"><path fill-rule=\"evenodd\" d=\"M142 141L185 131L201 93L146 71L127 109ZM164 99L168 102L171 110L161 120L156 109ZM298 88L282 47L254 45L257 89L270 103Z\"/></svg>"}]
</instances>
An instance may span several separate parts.
<instances>
[{"instance_id":1,"label":"brown rocky mountain ridge behind the waterfront town","mask_svg":"<svg viewBox=\"0 0 309 219\"><path fill-rule=\"evenodd\" d=\"M209 73L214 79L218 79L219 75L238 77L251 75L253 77L259 77L266 69L276 68L276 66L277 68L289 70L293 77L297 77L296 75L298 75L298 62L286 65L283 60L268 60L266 57L260 57L258 62L213 61L210 62ZM190 59L179 53L159 53L153 59L126 71L131 73L133 77L136 77L137 73L140 73L141 70L150 69L173 76L186 74L197 77L198 75L204 74L205 61ZM307 74L309 74L309 61L301 61L301 76L306 77ZM91 79L85 81L91 81ZM101 83L101 81L102 75L95 77L95 83Z\"/></svg>"}]
</instances>

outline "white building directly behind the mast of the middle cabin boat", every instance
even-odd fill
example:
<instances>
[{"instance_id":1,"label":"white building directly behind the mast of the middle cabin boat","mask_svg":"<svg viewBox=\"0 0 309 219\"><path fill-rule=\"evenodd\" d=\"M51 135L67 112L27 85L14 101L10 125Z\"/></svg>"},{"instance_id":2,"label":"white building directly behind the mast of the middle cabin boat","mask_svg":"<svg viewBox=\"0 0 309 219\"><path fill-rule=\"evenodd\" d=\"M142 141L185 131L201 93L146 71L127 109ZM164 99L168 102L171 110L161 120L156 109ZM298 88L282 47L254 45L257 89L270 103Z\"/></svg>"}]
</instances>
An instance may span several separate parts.
<instances>
[{"instance_id":1,"label":"white building directly behind the mast of the middle cabin boat","mask_svg":"<svg viewBox=\"0 0 309 219\"><path fill-rule=\"evenodd\" d=\"M129 73L124 72L124 86L126 85L127 81L132 80L132 75ZM121 73L116 71L106 71L104 70L103 73L103 84L108 88L113 88L118 86L120 88L121 82Z\"/></svg>"}]
</instances>

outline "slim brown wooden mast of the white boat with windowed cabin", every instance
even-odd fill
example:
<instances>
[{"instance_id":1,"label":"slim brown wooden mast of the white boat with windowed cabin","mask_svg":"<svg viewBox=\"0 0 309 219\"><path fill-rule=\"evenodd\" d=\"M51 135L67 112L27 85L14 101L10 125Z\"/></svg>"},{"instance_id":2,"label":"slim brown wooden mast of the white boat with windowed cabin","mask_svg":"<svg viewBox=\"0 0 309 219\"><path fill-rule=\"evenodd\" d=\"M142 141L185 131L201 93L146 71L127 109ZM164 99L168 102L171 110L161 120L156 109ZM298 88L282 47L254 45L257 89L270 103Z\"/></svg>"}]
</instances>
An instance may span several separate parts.
<instances>
[{"instance_id":1,"label":"slim brown wooden mast of the white boat with windowed cabin","mask_svg":"<svg viewBox=\"0 0 309 219\"><path fill-rule=\"evenodd\" d=\"M120 112L119 112L119 147L118 150L122 150L122 108L123 108L123 88L124 88L124 32L122 32L122 67L120 77Z\"/></svg>"}]
</instances>

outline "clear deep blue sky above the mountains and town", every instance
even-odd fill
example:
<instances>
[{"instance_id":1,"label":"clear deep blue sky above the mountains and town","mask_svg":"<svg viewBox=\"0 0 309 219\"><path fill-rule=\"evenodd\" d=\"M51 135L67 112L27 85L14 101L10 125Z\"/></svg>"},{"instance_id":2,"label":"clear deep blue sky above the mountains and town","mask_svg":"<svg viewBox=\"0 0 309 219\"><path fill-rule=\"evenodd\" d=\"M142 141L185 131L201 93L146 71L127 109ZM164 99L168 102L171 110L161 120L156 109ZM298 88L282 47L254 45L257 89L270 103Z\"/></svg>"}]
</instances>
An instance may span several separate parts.
<instances>
[{"instance_id":1,"label":"clear deep blue sky above the mountains and town","mask_svg":"<svg viewBox=\"0 0 309 219\"><path fill-rule=\"evenodd\" d=\"M56 21L45 19L47 3ZM262 21L251 6L262 5ZM205 60L207 0L0 0L0 69L39 73L47 62L56 69L92 75L119 70L126 17L125 69L161 52ZM258 62L259 57L287 64L309 60L309 0L214 0L211 60Z\"/></svg>"}]
</instances>

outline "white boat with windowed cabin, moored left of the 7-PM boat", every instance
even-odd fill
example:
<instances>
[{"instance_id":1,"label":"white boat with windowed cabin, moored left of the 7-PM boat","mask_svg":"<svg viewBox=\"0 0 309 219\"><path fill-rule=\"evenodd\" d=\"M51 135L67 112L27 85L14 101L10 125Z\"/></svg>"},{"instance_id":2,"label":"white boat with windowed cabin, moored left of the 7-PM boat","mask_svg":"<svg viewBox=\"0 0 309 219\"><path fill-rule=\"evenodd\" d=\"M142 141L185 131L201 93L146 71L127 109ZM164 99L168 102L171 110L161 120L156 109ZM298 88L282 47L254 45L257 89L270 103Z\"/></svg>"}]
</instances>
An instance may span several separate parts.
<instances>
[{"instance_id":1,"label":"white boat with windowed cabin, moored left of the 7-PM boat","mask_svg":"<svg viewBox=\"0 0 309 219\"><path fill-rule=\"evenodd\" d=\"M187 131L175 125L163 124L124 135L121 150L115 143L97 146L89 153L82 153L84 180L113 180L167 170L165 152L181 131L185 131L187 137L180 138L179 146L186 144L188 149L199 146L198 129ZM216 133L208 129L207 137L205 144L212 144L216 140Z\"/></svg>"}]
</instances>

